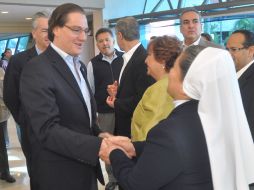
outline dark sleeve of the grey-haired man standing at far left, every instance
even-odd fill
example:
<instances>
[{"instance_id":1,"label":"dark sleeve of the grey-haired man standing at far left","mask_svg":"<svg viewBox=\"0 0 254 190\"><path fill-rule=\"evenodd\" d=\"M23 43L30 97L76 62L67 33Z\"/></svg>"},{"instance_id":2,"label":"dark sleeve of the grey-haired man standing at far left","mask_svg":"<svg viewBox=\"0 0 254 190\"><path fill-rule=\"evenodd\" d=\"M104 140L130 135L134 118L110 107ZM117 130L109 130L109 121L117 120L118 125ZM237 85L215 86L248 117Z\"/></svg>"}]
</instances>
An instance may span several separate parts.
<instances>
[{"instance_id":1,"label":"dark sleeve of the grey-haired man standing at far left","mask_svg":"<svg viewBox=\"0 0 254 190\"><path fill-rule=\"evenodd\" d=\"M15 56L11 57L4 77L3 99L5 105L10 110L14 120L20 124L19 121L19 81L21 73L21 63Z\"/></svg>"}]
</instances>

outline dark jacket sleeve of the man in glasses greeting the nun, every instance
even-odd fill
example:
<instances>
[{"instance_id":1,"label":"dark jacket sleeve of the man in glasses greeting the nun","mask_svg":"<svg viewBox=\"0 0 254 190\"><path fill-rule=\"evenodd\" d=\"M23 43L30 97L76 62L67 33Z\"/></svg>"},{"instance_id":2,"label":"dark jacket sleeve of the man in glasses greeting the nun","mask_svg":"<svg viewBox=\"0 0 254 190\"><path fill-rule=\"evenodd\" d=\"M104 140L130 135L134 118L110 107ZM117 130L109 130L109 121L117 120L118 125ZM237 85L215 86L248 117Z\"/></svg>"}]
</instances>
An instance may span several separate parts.
<instances>
[{"instance_id":1,"label":"dark jacket sleeve of the man in glasses greeting the nun","mask_svg":"<svg viewBox=\"0 0 254 190\"><path fill-rule=\"evenodd\" d=\"M41 62L43 61L39 59L29 62L23 69L20 82L21 101L32 134L44 149L95 166L98 163L101 139L76 132L68 123L61 122L59 106L65 102L56 99L52 68L43 66L48 63Z\"/></svg>"}]
</instances>

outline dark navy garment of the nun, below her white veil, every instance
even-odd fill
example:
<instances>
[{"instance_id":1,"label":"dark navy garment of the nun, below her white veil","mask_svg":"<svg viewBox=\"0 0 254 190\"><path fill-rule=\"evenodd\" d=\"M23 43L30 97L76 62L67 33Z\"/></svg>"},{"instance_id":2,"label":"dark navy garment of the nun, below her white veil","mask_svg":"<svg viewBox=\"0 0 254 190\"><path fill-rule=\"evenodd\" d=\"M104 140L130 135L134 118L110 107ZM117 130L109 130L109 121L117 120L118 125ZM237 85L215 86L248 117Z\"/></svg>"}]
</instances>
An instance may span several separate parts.
<instances>
[{"instance_id":1,"label":"dark navy garment of the nun, below her white veil","mask_svg":"<svg viewBox=\"0 0 254 190\"><path fill-rule=\"evenodd\" d=\"M206 140L197 101L176 107L135 143L135 163L121 150L110 154L114 176L126 190L212 190Z\"/></svg>"}]
</instances>

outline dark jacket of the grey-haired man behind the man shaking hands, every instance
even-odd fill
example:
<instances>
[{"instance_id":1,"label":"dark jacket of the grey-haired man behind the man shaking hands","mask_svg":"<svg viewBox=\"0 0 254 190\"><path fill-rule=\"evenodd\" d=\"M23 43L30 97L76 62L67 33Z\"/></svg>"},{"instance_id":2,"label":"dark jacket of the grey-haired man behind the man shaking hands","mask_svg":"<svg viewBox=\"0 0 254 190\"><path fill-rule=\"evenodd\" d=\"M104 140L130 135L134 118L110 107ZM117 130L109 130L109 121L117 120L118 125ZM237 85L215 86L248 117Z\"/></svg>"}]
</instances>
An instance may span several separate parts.
<instances>
[{"instance_id":1,"label":"dark jacket of the grey-haired man behind the man shaking hands","mask_svg":"<svg viewBox=\"0 0 254 190\"><path fill-rule=\"evenodd\" d=\"M28 123L26 122L26 114L21 106L20 96L19 96L19 82L20 76L25 64L27 64L32 58L38 56L35 46L26 51L20 52L13 55L9 61L8 67L5 72L4 77L4 91L3 98L6 106L10 110L14 120L20 126L21 132L21 147L23 153L26 157L27 170L30 178L31 175L31 150L30 143L28 139L27 128ZM32 188L32 181L30 182Z\"/></svg>"}]
</instances>

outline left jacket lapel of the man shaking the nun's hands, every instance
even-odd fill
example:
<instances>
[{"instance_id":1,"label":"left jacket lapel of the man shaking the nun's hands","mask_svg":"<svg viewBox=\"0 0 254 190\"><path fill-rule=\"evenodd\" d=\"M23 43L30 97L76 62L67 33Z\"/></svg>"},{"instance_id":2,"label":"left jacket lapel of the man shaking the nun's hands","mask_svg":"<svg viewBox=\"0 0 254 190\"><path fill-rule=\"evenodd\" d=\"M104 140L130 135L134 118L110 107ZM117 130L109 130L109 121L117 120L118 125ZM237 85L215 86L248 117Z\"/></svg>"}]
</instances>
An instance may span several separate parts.
<instances>
[{"instance_id":1,"label":"left jacket lapel of the man shaking the nun's hands","mask_svg":"<svg viewBox=\"0 0 254 190\"><path fill-rule=\"evenodd\" d=\"M76 94L81 99L83 104L86 105L83 95L81 93L81 90L77 84L77 81L75 77L73 76L72 72L70 71L69 67L63 60L63 58L51 46L48 47L45 53L47 54L53 67L65 79L67 84L69 84L70 87L76 92Z\"/></svg>"}]
</instances>

